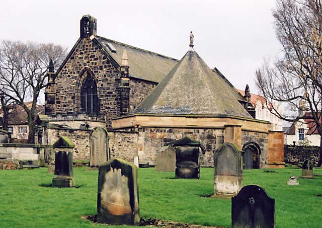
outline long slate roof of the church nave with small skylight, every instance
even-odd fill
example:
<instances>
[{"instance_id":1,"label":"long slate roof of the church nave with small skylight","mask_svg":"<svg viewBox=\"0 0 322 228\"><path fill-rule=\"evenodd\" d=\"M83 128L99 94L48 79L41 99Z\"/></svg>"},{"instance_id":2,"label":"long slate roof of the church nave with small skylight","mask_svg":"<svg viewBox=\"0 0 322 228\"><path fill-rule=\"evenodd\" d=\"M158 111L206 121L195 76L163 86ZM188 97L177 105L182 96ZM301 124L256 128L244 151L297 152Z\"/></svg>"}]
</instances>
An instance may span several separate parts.
<instances>
[{"instance_id":1,"label":"long slate roof of the church nave with small skylight","mask_svg":"<svg viewBox=\"0 0 322 228\"><path fill-rule=\"evenodd\" d=\"M119 65L121 65L123 50L127 51L130 67L129 74L133 78L159 83L179 61L175 58L133 47L115 40L100 36L95 36L95 38L103 46L103 51L110 55ZM112 44L116 51L112 51L109 44Z\"/></svg>"}]
</instances>

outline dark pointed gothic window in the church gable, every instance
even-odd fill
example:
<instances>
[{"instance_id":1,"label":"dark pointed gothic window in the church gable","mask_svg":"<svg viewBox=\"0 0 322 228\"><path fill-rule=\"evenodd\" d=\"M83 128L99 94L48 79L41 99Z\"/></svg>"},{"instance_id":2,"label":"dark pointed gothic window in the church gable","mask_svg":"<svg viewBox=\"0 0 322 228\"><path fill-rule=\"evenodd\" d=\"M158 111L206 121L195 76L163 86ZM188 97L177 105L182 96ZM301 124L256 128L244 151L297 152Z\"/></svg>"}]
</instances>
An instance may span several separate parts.
<instances>
[{"instance_id":1,"label":"dark pointed gothic window in the church gable","mask_svg":"<svg viewBox=\"0 0 322 228\"><path fill-rule=\"evenodd\" d=\"M97 85L90 73L87 73L81 88L81 111L87 113L99 112Z\"/></svg>"}]
</instances>

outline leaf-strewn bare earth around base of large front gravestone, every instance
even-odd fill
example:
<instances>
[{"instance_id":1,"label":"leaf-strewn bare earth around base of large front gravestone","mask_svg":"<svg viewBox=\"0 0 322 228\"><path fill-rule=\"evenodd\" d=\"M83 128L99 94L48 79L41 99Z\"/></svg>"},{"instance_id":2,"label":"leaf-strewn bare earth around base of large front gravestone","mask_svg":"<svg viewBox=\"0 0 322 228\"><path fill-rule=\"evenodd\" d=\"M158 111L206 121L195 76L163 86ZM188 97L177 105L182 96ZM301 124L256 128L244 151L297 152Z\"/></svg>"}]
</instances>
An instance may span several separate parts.
<instances>
[{"instance_id":1,"label":"leaf-strewn bare earth around base of large front gravestone","mask_svg":"<svg viewBox=\"0 0 322 228\"><path fill-rule=\"evenodd\" d=\"M91 222L97 223L96 214L95 215L84 215L82 219L90 220ZM102 223L100 223L102 224ZM106 224L111 225L111 224ZM176 221L167 221L157 218L147 218L141 217L140 226L150 227L166 227L166 228L226 228L227 226L207 226L207 225L196 225L196 224L189 224L185 222L176 222Z\"/></svg>"}]
</instances>

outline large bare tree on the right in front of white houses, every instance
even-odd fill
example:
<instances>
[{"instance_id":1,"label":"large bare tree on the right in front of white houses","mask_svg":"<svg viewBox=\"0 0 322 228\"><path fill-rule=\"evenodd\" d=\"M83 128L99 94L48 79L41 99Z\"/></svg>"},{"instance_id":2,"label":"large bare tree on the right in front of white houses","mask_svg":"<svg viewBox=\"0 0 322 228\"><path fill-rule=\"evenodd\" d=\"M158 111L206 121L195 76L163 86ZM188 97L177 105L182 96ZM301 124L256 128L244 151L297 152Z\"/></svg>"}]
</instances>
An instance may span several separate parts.
<instances>
[{"instance_id":1,"label":"large bare tree on the right in front of white houses","mask_svg":"<svg viewBox=\"0 0 322 228\"><path fill-rule=\"evenodd\" d=\"M276 35L283 56L256 70L257 85L268 103L287 104L271 112L285 121L309 124L321 136L322 164L322 6L321 0L276 0ZM306 114L304 114L306 112ZM309 114L308 114L309 113Z\"/></svg>"}]
</instances>

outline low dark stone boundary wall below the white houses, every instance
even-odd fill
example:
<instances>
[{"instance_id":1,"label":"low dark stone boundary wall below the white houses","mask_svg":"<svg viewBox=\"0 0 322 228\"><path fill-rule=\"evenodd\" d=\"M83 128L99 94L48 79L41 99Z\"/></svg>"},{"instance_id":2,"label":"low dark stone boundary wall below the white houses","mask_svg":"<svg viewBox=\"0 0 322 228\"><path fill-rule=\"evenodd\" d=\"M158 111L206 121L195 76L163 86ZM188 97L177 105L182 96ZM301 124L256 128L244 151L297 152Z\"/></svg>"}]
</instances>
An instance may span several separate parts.
<instances>
[{"instance_id":1,"label":"low dark stone boundary wall below the white houses","mask_svg":"<svg viewBox=\"0 0 322 228\"><path fill-rule=\"evenodd\" d=\"M319 146L284 145L284 162L288 164L303 163L306 159L311 160L316 166L319 158Z\"/></svg>"}]
</instances>

